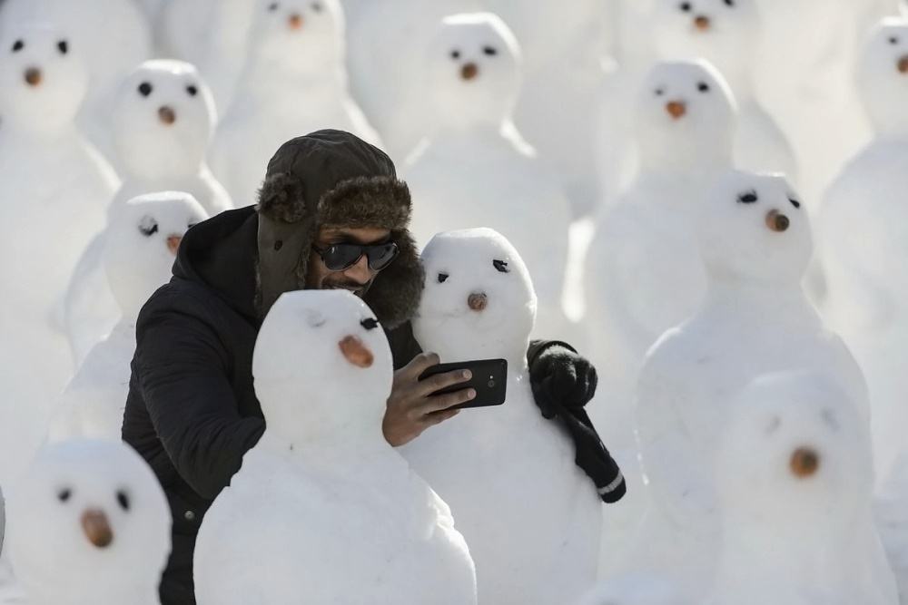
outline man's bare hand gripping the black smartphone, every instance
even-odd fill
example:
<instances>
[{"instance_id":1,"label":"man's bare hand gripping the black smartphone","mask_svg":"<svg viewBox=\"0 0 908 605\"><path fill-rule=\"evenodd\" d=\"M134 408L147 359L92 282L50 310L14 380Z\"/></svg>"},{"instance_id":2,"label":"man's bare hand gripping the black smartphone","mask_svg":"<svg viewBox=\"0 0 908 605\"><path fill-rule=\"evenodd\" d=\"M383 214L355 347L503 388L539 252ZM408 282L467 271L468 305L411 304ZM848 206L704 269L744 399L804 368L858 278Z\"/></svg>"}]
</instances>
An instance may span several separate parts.
<instances>
[{"instance_id":1,"label":"man's bare hand gripping the black smartphone","mask_svg":"<svg viewBox=\"0 0 908 605\"><path fill-rule=\"evenodd\" d=\"M476 396L473 389L461 389L447 395L432 395L439 389L468 381L469 370L458 370L419 380L429 367L440 363L434 353L422 353L394 373L394 385L388 398L388 409L381 430L388 443L397 447L419 437L429 426L440 424L459 414L449 407L465 404Z\"/></svg>"}]
</instances>

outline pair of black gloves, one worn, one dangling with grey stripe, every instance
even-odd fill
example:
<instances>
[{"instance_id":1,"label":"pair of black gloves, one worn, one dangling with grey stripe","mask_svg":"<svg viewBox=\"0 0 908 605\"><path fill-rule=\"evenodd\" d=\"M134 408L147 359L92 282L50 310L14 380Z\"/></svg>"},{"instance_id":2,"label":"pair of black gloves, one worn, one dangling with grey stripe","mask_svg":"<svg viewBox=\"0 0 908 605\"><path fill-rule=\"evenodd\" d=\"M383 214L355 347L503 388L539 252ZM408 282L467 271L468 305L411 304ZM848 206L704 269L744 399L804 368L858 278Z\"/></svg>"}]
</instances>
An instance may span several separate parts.
<instances>
[{"instance_id":1,"label":"pair of black gloves, one worn, one dangling with grey stripe","mask_svg":"<svg viewBox=\"0 0 908 605\"><path fill-rule=\"evenodd\" d=\"M596 368L571 346L550 343L529 359L529 384L542 415L557 418L574 441L574 462L596 483L599 497L615 503L627 493L621 469L599 439L584 406L596 394Z\"/></svg>"}]
</instances>

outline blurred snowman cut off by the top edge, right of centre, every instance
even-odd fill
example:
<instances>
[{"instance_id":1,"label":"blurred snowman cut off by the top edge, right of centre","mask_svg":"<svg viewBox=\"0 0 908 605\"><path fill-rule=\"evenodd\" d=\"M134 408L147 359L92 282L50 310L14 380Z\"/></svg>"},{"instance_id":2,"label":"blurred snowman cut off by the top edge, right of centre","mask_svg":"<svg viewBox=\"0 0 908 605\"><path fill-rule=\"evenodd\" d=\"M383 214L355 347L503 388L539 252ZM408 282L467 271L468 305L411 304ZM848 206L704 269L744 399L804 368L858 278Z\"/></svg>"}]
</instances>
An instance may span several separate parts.
<instances>
[{"instance_id":1,"label":"blurred snowman cut off by the top edge, right of centre","mask_svg":"<svg viewBox=\"0 0 908 605\"><path fill-rule=\"evenodd\" d=\"M755 96L754 66L762 34L755 0L656 0L652 19L656 54L663 59L706 59L735 93L735 165L783 172L794 181L795 153Z\"/></svg>"}]
</instances>

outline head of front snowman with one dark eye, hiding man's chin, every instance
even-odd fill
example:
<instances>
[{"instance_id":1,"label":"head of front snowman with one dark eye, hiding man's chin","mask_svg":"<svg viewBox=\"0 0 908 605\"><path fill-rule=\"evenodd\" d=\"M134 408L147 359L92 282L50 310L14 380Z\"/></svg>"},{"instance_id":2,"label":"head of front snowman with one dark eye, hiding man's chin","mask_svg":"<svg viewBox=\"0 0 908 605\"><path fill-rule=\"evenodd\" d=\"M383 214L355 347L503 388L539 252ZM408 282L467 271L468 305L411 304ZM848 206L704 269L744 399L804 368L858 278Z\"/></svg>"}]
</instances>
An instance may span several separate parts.
<instances>
[{"instance_id":1,"label":"head of front snowman with one dark eye, hiding man's chin","mask_svg":"<svg viewBox=\"0 0 908 605\"><path fill-rule=\"evenodd\" d=\"M375 314L346 290L278 298L252 355L269 431L294 440L381 435L393 365Z\"/></svg>"}]
</instances>

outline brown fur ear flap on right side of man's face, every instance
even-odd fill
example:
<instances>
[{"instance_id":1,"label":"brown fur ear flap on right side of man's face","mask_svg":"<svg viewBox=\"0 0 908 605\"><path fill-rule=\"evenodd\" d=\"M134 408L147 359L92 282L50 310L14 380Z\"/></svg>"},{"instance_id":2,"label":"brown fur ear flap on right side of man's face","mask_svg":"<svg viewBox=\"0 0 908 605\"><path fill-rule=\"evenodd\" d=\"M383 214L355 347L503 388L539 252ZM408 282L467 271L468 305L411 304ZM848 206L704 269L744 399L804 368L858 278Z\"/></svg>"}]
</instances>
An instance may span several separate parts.
<instances>
[{"instance_id":1,"label":"brown fur ear flap on right side of man's face","mask_svg":"<svg viewBox=\"0 0 908 605\"><path fill-rule=\"evenodd\" d=\"M416 314L426 272L419 260L416 244L408 231L391 231L391 239L400 249L397 259L383 268L375 278L364 300L381 324L394 329Z\"/></svg>"}]
</instances>

